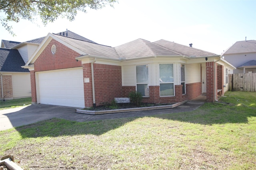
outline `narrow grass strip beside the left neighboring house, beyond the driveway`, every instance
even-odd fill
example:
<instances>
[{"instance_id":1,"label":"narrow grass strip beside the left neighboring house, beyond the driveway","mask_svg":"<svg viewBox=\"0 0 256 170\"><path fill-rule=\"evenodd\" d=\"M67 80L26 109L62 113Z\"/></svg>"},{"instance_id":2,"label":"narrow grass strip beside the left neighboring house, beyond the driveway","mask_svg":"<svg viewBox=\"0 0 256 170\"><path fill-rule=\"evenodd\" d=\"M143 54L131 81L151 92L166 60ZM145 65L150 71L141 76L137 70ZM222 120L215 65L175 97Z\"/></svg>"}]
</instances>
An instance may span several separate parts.
<instances>
[{"instance_id":1,"label":"narrow grass strip beside the left neighboring house, beyond the driveway","mask_svg":"<svg viewBox=\"0 0 256 170\"><path fill-rule=\"evenodd\" d=\"M21 107L31 104L31 98L13 99L13 100L0 100L0 110Z\"/></svg>"}]
</instances>

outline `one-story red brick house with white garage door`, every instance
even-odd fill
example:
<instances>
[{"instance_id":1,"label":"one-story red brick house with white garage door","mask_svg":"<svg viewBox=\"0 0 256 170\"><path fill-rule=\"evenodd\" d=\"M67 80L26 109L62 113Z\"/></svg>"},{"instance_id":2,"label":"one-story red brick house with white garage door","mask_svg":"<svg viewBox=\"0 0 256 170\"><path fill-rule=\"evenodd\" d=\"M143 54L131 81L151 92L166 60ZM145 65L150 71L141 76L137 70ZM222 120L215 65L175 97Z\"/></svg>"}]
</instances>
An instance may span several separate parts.
<instances>
[{"instance_id":1,"label":"one-story red brick house with white garage door","mask_svg":"<svg viewBox=\"0 0 256 170\"><path fill-rule=\"evenodd\" d=\"M30 70L33 104L71 107L99 106L135 90L143 102L202 93L214 102L228 90L225 70L235 68L220 55L163 39L110 47L52 33L22 67Z\"/></svg>"}]
</instances>

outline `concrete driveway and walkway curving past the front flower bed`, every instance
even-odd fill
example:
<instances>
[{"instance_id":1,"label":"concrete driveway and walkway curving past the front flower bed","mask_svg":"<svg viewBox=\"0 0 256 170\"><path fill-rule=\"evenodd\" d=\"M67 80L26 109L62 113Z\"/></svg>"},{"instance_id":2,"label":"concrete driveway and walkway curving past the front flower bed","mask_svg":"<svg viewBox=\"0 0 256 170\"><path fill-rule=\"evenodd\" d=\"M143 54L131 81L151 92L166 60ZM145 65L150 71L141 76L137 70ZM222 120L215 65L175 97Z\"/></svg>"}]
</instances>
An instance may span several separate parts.
<instances>
[{"instance_id":1,"label":"concrete driveway and walkway curving past the front flower bed","mask_svg":"<svg viewBox=\"0 0 256 170\"><path fill-rule=\"evenodd\" d=\"M193 100L190 100L185 104L174 107L172 109L110 113L104 115L86 115L76 113L75 109L77 108L74 107L52 106L43 104L30 105L13 109L0 110L0 131L52 118L84 122L104 119L116 119L122 117L143 117L150 115L193 111L198 107L202 106L205 101L206 96L198 96L197 98L194 98Z\"/></svg>"}]
</instances>

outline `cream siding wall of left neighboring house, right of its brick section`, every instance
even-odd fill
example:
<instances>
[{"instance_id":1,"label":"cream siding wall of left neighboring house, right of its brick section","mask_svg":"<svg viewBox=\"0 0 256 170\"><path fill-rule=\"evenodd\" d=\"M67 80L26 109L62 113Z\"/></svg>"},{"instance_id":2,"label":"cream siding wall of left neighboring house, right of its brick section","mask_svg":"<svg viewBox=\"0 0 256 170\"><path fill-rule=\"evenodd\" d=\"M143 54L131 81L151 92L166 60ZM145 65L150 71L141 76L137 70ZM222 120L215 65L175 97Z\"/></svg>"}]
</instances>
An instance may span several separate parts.
<instances>
[{"instance_id":1,"label":"cream siding wall of left neighboring house, right of its brick section","mask_svg":"<svg viewBox=\"0 0 256 170\"><path fill-rule=\"evenodd\" d=\"M13 98L31 97L30 73L12 73Z\"/></svg>"}]
</instances>

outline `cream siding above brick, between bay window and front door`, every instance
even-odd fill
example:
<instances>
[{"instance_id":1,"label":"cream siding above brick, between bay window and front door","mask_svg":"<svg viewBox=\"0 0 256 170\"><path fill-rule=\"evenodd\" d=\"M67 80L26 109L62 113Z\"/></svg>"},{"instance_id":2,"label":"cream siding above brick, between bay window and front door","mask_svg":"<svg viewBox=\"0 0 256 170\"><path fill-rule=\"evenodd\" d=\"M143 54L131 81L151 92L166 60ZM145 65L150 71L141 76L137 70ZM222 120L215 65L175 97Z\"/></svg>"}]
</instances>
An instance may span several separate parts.
<instances>
[{"instance_id":1,"label":"cream siding above brick, between bay window and front door","mask_svg":"<svg viewBox=\"0 0 256 170\"><path fill-rule=\"evenodd\" d=\"M201 81L200 63L185 64L186 84L196 83Z\"/></svg>"}]
</instances>

